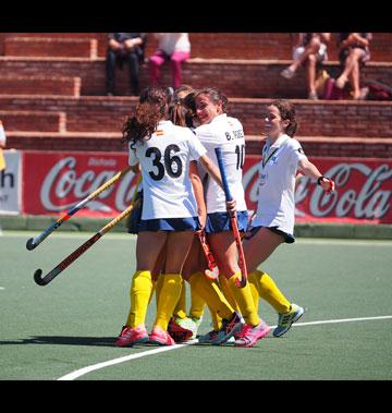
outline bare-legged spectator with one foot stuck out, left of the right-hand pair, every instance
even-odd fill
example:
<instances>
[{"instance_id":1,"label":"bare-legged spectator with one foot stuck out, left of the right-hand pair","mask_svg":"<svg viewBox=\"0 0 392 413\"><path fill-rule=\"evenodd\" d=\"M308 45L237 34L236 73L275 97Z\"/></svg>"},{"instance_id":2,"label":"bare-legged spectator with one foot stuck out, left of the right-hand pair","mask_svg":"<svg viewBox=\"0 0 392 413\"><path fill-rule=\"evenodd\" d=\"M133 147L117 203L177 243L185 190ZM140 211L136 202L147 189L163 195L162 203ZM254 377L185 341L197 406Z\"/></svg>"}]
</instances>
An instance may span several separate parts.
<instances>
[{"instance_id":1,"label":"bare-legged spectator with one foot stuck out, left of the right-hand pair","mask_svg":"<svg viewBox=\"0 0 392 413\"><path fill-rule=\"evenodd\" d=\"M298 44L293 50L293 62L281 72L284 78L292 78L299 66L306 68L308 99L317 100L316 74L320 64L327 60L327 44L330 33L299 33Z\"/></svg>"}]
</instances>

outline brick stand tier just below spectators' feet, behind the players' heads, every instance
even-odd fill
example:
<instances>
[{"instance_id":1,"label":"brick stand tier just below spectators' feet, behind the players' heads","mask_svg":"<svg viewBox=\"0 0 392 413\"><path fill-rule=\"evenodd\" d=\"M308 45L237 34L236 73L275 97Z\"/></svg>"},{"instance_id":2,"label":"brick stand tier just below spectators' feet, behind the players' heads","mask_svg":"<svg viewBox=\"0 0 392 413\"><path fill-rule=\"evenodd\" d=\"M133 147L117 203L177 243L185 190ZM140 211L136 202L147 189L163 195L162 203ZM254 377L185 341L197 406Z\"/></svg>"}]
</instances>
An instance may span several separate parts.
<instances>
[{"instance_id":1,"label":"brick stand tier just below spectators' feet, behind the players' heads","mask_svg":"<svg viewBox=\"0 0 392 413\"><path fill-rule=\"evenodd\" d=\"M133 97L0 96L0 108L65 112L69 132L120 132L136 101ZM243 122L246 134L259 135L270 101L232 98L229 111ZM297 110L298 134L303 136L392 137L392 105L388 101L292 101Z\"/></svg>"}]
</instances>

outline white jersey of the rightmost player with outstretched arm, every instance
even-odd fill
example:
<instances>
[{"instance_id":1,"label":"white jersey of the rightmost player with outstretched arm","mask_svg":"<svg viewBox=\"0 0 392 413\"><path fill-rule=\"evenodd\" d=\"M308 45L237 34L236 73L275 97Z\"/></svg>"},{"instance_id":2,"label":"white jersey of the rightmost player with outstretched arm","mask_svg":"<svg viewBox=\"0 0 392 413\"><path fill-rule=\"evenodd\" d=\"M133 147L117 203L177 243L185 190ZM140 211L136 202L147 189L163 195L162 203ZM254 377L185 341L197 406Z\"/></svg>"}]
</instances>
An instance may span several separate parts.
<instances>
[{"instance_id":1,"label":"white jersey of the rightmost player with outstretched arm","mask_svg":"<svg viewBox=\"0 0 392 413\"><path fill-rule=\"evenodd\" d=\"M259 165L257 214L254 227L278 227L293 234L295 217L295 175L298 161L307 159L298 141L282 135L262 148Z\"/></svg>"}]
</instances>

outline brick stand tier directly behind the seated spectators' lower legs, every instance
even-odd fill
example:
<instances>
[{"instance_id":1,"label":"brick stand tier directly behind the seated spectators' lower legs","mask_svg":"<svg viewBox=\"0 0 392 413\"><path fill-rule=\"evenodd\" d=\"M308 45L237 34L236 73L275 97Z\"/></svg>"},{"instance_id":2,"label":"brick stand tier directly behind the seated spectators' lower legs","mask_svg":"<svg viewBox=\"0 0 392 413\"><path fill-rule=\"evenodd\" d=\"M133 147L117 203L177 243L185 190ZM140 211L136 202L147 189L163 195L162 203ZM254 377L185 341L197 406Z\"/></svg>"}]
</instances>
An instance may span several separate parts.
<instances>
[{"instance_id":1,"label":"brick stand tier directly behind the seated spectators' lower legs","mask_svg":"<svg viewBox=\"0 0 392 413\"><path fill-rule=\"evenodd\" d=\"M183 65L183 83L192 86L216 86L229 97L287 97L306 98L305 71L299 70L295 78L287 81L280 72L289 61L200 61L191 59ZM327 63L326 69L332 77L338 76L336 63ZM105 60L64 60L64 59L15 59L0 57L2 75L42 75L79 76L81 94L102 96L106 93ZM378 78L392 84L391 63L368 63L362 71L362 78ZM171 72L168 65L162 69L161 83L171 85ZM140 69L140 86L149 84L148 66ZM117 92L124 94L128 88L127 68L117 71Z\"/></svg>"}]
</instances>

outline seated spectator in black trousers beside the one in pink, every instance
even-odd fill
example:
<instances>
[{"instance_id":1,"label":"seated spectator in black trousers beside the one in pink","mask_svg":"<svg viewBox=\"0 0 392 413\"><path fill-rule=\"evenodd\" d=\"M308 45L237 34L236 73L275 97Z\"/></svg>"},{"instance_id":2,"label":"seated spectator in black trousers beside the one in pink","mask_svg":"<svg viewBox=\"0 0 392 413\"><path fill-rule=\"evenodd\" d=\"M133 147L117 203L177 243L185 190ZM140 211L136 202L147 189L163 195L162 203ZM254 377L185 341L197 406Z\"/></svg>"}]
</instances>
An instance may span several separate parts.
<instances>
[{"instance_id":1,"label":"seated spectator in black trousers beside the one in pink","mask_svg":"<svg viewBox=\"0 0 392 413\"><path fill-rule=\"evenodd\" d=\"M127 95L139 94L139 66L144 62L147 35L145 33L110 33L106 60L107 95L114 94L115 65L122 69L126 63L130 70Z\"/></svg>"}]
</instances>

